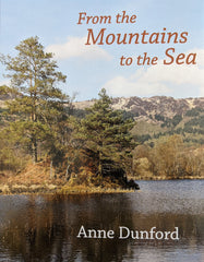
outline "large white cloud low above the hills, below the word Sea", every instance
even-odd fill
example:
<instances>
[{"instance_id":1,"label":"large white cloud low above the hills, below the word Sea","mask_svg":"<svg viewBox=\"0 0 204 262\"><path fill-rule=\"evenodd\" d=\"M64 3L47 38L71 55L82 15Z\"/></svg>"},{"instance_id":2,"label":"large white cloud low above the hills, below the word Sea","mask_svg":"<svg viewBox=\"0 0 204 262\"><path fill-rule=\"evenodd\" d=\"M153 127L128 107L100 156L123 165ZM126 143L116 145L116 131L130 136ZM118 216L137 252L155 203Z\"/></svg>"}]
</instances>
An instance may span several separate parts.
<instances>
[{"instance_id":1,"label":"large white cloud low above the hills, below the word Sea","mask_svg":"<svg viewBox=\"0 0 204 262\"><path fill-rule=\"evenodd\" d=\"M195 50L194 50L195 52ZM170 95L173 88L185 85L187 88L200 90L199 96L204 95L204 50L196 50L197 64L157 66L140 68L135 73L124 78L118 75L108 81L104 87L112 96L151 96Z\"/></svg>"}]
</instances>

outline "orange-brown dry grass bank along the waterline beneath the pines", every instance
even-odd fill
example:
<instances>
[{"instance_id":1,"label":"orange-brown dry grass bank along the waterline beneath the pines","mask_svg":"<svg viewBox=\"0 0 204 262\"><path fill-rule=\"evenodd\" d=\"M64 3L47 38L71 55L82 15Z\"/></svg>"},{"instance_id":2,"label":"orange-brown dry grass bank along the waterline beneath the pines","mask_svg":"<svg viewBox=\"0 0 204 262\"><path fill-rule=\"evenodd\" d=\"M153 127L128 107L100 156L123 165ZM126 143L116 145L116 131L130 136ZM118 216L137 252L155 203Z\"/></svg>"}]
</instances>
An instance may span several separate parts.
<instances>
[{"instance_id":1,"label":"orange-brown dry grass bank along the waterline beneath the pines","mask_svg":"<svg viewBox=\"0 0 204 262\"><path fill-rule=\"evenodd\" d=\"M131 192L122 189L110 179L95 177L88 168L83 168L80 174L73 174L69 181L62 178L50 179L48 163L29 164L25 170L16 176L0 179L1 194L21 193L119 193Z\"/></svg>"}]
</instances>

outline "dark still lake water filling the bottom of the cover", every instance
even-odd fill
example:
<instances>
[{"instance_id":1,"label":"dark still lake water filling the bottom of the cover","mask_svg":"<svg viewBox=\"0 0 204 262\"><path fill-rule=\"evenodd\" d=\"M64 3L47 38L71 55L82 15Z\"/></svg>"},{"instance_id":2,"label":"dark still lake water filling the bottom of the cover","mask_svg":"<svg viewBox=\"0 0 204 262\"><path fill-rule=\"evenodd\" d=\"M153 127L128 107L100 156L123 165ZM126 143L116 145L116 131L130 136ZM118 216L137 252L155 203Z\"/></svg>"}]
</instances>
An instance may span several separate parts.
<instances>
[{"instance_id":1,"label":"dark still lake water filling the bottom of the cover","mask_svg":"<svg viewBox=\"0 0 204 262\"><path fill-rule=\"evenodd\" d=\"M204 180L139 181L133 193L0 195L0 261L204 261ZM85 229L172 231L179 240L84 239Z\"/></svg>"}]
</instances>

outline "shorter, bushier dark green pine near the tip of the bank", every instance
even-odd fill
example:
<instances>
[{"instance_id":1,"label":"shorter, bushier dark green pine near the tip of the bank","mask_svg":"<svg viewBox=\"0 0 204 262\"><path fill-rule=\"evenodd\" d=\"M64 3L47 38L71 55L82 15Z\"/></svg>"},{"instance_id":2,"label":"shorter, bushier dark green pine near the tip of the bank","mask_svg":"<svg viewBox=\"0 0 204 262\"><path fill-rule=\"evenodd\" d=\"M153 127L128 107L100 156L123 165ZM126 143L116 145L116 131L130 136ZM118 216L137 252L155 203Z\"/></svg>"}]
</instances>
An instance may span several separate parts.
<instances>
[{"instance_id":1,"label":"shorter, bushier dark green pine near the tip of the bank","mask_svg":"<svg viewBox=\"0 0 204 262\"><path fill-rule=\"evenodd\" d=\"M125 169L131 162L134 146L130 130L134 126L132 119L124 119L122 111L111 108L112 99L100 91L99 99L88 108L82 120L86 150L92 153L97 172L104 175L105 167L115 166Z\"/></svg>"}]
</instances>

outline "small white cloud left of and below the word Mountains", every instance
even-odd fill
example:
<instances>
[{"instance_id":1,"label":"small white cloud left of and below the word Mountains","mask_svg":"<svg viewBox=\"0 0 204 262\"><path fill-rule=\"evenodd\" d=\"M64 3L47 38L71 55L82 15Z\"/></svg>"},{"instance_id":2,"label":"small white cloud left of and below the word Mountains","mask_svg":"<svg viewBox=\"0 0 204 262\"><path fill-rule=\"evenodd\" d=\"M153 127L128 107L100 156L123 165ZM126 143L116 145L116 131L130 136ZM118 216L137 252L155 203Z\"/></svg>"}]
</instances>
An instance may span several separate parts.
<instances>
[{"instance_id":1,"label":"small white cloud left of and below the word Mountains","mask_svg":"<svg viewBox=\"0 0 204 262\"><path fill-rule=\"evenodd\" d=\"M110 60L111 56L98 46L86 46L86 37L69 37L64 44L50 45L47 52L53 52L56 59L64 60L73 57L83 59Z\"/></svg>"}]
</instances>

